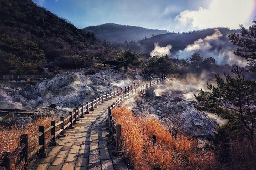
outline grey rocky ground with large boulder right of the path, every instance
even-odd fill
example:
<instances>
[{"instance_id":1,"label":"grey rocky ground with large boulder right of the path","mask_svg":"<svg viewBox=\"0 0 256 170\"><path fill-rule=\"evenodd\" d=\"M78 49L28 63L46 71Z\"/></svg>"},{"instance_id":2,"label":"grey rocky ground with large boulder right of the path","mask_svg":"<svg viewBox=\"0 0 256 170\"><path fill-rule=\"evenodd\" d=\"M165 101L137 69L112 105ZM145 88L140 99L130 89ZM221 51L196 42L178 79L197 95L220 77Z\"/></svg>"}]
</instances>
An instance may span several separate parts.
<instances>
[{"instance_id":1,"label":"grey rocky ground with large boulder right of the path","mask_svg":"<svg viewBox=\"0 0 256 170\"><path fill-rule=\"evenodd\" d=\"M182 92L161 90L163 87L168 88L169 85L171 82L165 80L158 87L146 89L143 96L136 98L137 106L132 109L134 115L159 119L164 126L166 126L166 121L170 125L170 122L178 115L178 118L182 120L179 129L183 133L197 137L201 148L206 143L210 145L207 137L213 136L217 132L216 128L226 123L227 120L213 113L196 110L194 106L199 103L182 99L181 97L184 96ZM131 102L131 106L134 106L134 103Z\"/></svg>"}]
</instances>

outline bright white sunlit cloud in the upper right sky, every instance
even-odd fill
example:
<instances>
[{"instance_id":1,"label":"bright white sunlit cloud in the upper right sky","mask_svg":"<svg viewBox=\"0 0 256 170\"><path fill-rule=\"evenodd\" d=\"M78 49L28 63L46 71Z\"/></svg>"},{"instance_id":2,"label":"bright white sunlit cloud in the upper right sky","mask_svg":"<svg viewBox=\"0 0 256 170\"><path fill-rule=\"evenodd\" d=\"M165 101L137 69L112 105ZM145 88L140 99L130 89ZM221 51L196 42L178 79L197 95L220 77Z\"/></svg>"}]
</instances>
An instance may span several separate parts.
<instances>
[{"instance_id":1,"label":"bright white sunlit cloud in the upper right sky","mask_svg":"<svg viewBox=\"0 0 256 170\"><path fill-rule=\"evenodd\" d=\"M185 10L176 16L179 28L191 26L194 29L229 27L238 29L246 24L254 9L254 0L213 0L209 9Z\"/></svg>"}]
</instances>

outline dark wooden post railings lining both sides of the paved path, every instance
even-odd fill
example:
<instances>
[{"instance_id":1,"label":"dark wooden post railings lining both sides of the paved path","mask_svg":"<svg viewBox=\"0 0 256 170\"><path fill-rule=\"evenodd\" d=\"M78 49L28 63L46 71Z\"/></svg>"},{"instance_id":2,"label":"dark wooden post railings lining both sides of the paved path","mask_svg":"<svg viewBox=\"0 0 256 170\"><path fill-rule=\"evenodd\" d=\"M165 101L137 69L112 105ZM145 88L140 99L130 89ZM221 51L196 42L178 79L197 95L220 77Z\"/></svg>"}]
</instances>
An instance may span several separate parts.
<instances>
[{"instance_id":1,"label":"dark wooden post railings lining both sides of the paved path","mask_svg":"<svg viewBox=\"0 0 256 170\"><path fill-rule=\"evenodd\" d=\"M137 71L137 70L136 70ZM141 71L141 70L140 70ZM149 75L148 73L145 73ZM151 76L152 77L152 76ZM103 103L104 101L112 99L112 97L118 97L118 100L108 108L108 121L109 127L111 129L111 134L113 134L113 138L116 142L116 149L120 145L120 136L121 136L121 125L115 125L114 120L111 115L111 109L120 106L124 100L128 97L134 96L142 92L144 89L148 89L151 86L160 83L166 78L163 75L159 80L150 81L149 83L140 85L139 83L134 83L124 89L118 89L116 91L110 92L108 94L102 95L91 102L86 102L86 104L81 105L81 107L76 107L73 109L73 112L69 112L69 116L64 118L60 117L60 121L55 122L51 121L51 126L46 128L45 126L39 126L38 134L34 137L28 138L27 134L20 135L20 145L15 149L12 153L6 153L4 155L4 162L0 165L0 170L21 170L28 165L28 160L31 159L34 155L38 155L39 158L47 157L46 146L49 143L50 146L57 145L56 137L65 137L65 129L73 129L74 124L77 124L79 118L84 117L84 114L89 114L89 111L97 108L97 105ZM138 93L137 93L138 89ZM57 127L59 130L57 131ZM50 131L50 136L46 138L46 132ZM32 151L28 151L28 145L38 139L38 146L34 148Z\"/></svg>"}]
</instances>

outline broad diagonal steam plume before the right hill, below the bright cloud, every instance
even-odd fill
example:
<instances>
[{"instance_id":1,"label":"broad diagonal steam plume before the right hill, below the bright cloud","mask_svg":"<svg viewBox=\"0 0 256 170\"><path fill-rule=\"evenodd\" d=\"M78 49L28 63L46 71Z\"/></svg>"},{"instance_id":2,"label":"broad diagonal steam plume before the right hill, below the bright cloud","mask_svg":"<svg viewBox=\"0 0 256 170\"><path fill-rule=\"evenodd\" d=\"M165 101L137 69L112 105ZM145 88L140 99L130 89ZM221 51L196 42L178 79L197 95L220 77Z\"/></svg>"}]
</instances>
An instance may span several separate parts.
<instances>
[{"instance_id":1,"label":"broad diagonal steam plume before the right hill, below the bright cloud","mask_svg":"<svg viewBox=\"0 0 256 170\"><path fill-rule=\"evenodd\" d=\"M234 55L236 50L231 43L226 43L226 38L218 29L214 34L206 36L204 39L198 39L192 45L187 45L185 49L179 51L180 58L187 58L194 52L198 52L202 57L214 57L218 64L238 64L246 66L247 60Z\"/></svg>"}]
</instances>

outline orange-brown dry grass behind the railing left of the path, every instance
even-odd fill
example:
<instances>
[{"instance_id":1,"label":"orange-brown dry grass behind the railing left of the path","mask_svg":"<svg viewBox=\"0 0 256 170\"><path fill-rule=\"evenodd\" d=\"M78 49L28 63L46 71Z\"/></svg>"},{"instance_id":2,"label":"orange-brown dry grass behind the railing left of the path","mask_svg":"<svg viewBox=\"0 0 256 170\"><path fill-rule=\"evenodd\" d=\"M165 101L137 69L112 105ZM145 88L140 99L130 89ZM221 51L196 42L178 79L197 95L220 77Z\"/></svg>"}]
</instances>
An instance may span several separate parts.
<instances>
[{"instance_id":1,"label":"orange-brown dry grass behind the railing left of the path","mask_svg":"<svg viewBox=\"0 0 256 170\"><path fill-rule=\"evenodd\" d=\"M18 147L21 134L28 134L28 139L30 139L38 134L38 126L45 126L45 128L48 128L51 120L58 122L57 118L39 118L33 123L25 126L23 129L20 129L17 126L11 126L11 128L0 127L0 164L3 161L2 159L6 152L12 153ZM50 137L50 131L46 133L46 138L48 137ZM38 138L29 143L28 150L32 151L37 146Z\"/></svg>"}]
</instances>

